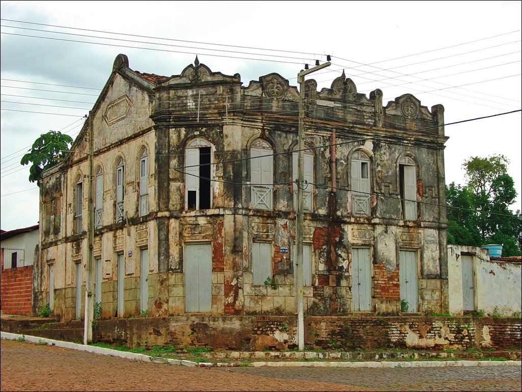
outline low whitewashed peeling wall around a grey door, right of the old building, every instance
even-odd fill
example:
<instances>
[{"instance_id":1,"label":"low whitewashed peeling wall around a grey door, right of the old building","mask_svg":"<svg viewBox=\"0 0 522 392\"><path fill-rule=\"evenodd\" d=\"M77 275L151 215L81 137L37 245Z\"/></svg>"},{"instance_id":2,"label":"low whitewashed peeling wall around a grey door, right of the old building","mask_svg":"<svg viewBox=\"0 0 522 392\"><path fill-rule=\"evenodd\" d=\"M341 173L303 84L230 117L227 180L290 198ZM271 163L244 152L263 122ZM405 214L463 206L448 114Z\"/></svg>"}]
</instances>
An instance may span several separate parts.
<instances>
[{"instance_id":1,"label":"low whitewashed peeling wall around a grey door, right of the old building","mask_svg":"<svg viewBox=\"0 0 522 392\"><path fill-rule=\"evenodd\" d=\"M461 254L472 257L474 274L474 303L476 311L483 310L511 316L521 311L522 277L520 262L490 260L487 250L474 246L448 245L449 310L462 314Z\"/></svg>"}]
</instances>

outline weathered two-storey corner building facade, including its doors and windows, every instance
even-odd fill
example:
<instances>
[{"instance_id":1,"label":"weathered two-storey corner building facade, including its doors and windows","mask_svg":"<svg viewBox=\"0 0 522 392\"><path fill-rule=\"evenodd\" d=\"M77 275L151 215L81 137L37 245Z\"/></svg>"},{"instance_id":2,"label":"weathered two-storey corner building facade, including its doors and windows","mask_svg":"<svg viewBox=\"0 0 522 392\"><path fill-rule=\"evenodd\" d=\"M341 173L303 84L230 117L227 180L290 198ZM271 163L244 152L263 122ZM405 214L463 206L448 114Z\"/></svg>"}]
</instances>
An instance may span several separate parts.
<instances>
[{"instance_id":1,"label":"weathered two-storey corner building facade, including its doors and windows","mask_svg":"<svg viewBox=\"0 0 522 392\"><path fill-rule=\"evenodd\" d=\"M344 74L304 88L305 313L447 312L443 106L383 106ZM92 124L102 318L293 315L299 99L278 74L243 87L197 59L164 77L118 55L41 181L39 306L83 312Z\"/></svg>"}]
</instances>

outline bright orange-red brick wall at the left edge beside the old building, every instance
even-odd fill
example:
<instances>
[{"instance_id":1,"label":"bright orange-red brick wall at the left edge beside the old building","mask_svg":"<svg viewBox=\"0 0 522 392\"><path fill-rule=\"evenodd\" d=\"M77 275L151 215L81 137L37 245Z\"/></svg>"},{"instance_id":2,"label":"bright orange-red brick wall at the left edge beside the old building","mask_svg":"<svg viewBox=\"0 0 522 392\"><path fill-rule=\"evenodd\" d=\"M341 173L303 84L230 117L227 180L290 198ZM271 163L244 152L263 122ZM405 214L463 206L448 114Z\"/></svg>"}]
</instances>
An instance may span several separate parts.
<instances>
[{"instance_id":1,"label":"bright orange-red brick wall at the left edge beside the old building","mask_svg":"<svg viewBox=\"0 0 522 392\"><path fill-rule=\"evenodd\" d=\"M5 314L30 315L32 304L33 266L2 270L0 299Z\"/></svg>"}]
</instances>

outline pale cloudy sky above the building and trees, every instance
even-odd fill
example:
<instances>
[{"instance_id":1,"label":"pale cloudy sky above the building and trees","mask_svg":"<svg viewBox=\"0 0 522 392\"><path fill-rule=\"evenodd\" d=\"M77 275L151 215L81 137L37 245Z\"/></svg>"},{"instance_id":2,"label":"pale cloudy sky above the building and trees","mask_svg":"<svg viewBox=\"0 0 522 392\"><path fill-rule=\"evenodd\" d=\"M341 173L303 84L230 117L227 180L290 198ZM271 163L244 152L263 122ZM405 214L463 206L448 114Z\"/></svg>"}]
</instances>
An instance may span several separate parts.
<instances>
[{"instance_id":1,"label":"pale cloudy sky above the building and trees","mask_svg":"<svg viewBox=\"0 0 522 392\"><path fill-rule=\"evenodd\" d=\"M139 4L139 6L137 6ZM180 74L195 55L213 72L250 80L277 72L296 85L304 63L318 89L345 70L383 104L412 93L444 105L446 183L462 163L505 155L521 209L521 2L24 2L2 1L3 230L38 223L39 192L20 159L49 130L75 137L114 58L140 72ZM260 55L264 54L264 55ZM516 111L511 114L503 114Z\"/></svg>"}]
</instances>

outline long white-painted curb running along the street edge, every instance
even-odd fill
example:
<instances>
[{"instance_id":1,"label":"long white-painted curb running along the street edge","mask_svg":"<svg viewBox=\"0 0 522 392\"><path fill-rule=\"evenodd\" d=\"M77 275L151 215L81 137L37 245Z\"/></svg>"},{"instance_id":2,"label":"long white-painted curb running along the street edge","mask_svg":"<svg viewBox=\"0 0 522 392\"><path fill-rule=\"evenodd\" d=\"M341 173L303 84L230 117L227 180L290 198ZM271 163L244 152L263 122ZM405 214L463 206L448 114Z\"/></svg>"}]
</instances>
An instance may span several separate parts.
<instances>
[{"instance_id":1,"label":"long white-painted curb running along the street edge","mask_svg":"<svg viewBox=\"0 0 522 392\"><path fill-rule=\"evenodd\" d=\"M139 354L128 351L120 351L113 349L106 349L102 347L83 345L79 343L66 342L62 340L54 340L48 338L41 338L38 336L11 334L10 332L0 332L0 338L6 340L17 340L23 338L25 340L35 343L47 343L51 346L62 347L66 349L92 352L94 354L111 355L112 357L132 359L143 362L165 363L170 365L182 366L198 366L198 367L237 367L241 366L239 363L218 363L212 364L210 362L192 362L186 360L168 359L160 357L151 357L150 355ZM458 366L522 366L522 361L379 361L379 362L341 362L341 361L281 361L281 362L267 362L259 361L252 362L248 366L262 367L262 366L279 366L279 367L458 367Z\"/></svg>"}]
</instances>

